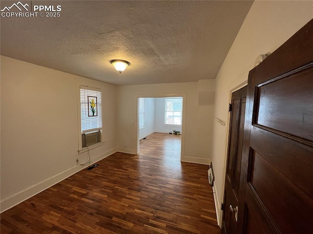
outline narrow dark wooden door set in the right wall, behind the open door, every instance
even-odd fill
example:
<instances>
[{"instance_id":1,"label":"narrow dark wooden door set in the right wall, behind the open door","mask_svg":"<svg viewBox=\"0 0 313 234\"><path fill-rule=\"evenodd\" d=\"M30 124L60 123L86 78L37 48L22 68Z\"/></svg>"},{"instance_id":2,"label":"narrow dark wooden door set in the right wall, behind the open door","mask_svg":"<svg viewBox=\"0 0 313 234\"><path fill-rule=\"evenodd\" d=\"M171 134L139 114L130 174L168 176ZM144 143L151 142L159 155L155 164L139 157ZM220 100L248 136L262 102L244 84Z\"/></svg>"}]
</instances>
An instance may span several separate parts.
<instances>
[{"instance_id":1,"label":"narrow dark wooden door set in the right wall, behind the open door","mask_svg":"<svg viewBox=\"0 0 313 234\"><path fill-rule=\"evenodd\" d=\"M237 226L240 169L246 112L246 90L247 87L245 86L234 92L231 97L222 222L224 234L235 233Z\"/></svg>"}]
</instances>

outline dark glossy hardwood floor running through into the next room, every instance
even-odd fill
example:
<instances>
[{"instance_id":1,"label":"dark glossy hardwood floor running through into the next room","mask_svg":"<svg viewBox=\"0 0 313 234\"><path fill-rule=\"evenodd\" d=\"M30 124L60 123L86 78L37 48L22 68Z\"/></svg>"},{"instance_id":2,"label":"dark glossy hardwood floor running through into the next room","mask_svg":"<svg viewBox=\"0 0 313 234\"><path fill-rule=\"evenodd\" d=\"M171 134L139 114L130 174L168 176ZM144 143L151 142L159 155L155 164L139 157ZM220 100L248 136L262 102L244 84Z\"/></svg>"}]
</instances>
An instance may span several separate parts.
<instances>
[{"instance_id":1,"label":"dark glossy hardwood floor running through into the next room","mask_svg":"<svg viewBox=\"0 0 313 234\"><path fill-rule=\"evenodd\" d=\"M180 136L153 133L1 213L1 234L220 234L208 166L179 160Z\"/></svg>"}]
</instances>

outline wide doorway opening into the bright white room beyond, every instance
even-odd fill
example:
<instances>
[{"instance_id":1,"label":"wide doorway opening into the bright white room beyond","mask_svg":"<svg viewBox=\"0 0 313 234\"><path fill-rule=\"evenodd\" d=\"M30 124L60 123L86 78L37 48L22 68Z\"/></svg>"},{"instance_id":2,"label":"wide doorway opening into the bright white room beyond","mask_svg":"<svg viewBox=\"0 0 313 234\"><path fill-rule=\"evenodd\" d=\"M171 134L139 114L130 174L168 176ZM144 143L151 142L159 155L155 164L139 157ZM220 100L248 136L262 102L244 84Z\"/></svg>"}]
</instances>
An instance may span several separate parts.
<instances>
[{"instance_id":1,"label":"wide doorway opening into the bright white room beyond","mask_svg":"<svg viewBox=\"0 0 313 234\"><path fill-rule=\"evenodd\" d=\"M162 153L181 161L184 153L185 95L137 97L137 153ZM156 151L154 151L156 150Z\"/></svg>"}]
</instances>

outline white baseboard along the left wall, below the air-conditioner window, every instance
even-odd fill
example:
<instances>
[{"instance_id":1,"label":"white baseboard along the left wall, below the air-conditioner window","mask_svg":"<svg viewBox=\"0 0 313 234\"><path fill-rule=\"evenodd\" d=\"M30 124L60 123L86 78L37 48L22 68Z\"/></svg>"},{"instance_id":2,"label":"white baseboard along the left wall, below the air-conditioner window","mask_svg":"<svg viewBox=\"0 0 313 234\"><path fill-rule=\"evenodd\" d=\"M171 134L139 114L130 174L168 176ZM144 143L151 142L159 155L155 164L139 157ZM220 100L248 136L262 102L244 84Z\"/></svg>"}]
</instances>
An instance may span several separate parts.
<instances>
[{"instance_id":1,"label":"white baseboard along the left wall, below the air-conditioner window","mask_svg":"<svg viewBox=\"0 0 313 234\"><path fill-rule=\"evenodd\" d=\"M91 158L92 164L95 162L98 162L111 154L116 152L116 148L110 149L94 158ZM51 186L59 183L60 181L66 179L67 177L77 173L80 170L83 170L84 168L87 168L87 166L81 166L81 165L76 165L73 166L65 171L62 171L56 175L51 176L50 178L45 179L44 181L41 181L35 185L32 185L22 191L19 191L5 199L3 199L0 202L0 213L20 204L21 202L27 200L28 198L50 188Z\"/></svg>"}]
</instances>

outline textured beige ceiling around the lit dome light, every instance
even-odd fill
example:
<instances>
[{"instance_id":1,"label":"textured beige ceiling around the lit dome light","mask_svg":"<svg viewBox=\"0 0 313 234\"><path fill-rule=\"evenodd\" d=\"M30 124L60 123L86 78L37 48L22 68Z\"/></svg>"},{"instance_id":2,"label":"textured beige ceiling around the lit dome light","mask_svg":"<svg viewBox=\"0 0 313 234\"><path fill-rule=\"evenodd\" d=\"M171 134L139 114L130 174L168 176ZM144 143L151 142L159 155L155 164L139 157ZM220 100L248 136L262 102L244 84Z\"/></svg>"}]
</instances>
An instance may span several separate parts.
<instances>
[{"instance_id":1,"label":"textured beige ceiling around the lit dome light","mask_svg":"<svg viewBox=\"0 0 313 234\"><path fill-rule=\"evenodd\" d=\"M12 2L1 0L1 9ZM61 17L1 17L1 55L113 85L214 79L252 4L26 2L61 5ZM131 65L119 74L112 59Z\"/></svg>"}]
</instances>

